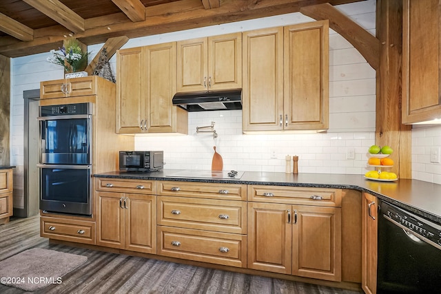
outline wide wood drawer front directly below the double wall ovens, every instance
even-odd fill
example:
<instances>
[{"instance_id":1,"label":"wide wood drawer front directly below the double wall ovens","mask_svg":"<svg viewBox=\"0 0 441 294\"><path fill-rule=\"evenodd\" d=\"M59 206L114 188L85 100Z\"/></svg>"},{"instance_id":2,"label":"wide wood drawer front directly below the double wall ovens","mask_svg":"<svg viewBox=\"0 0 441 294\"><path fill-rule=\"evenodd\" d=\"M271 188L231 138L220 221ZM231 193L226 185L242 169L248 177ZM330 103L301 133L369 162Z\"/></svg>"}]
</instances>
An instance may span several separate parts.
<instances>
[{"instance_id":1,"label":"wide wood drawer front directly below the double wall ovens","mask_svg":"<svg viewBox=\"0 0 441 294\"><path fill-rule=\"evenodd\" d=\"M84 244L95 244L94 222L45 217L41 217L40 222L41 237Z\"/></svg>"}]
</instances>

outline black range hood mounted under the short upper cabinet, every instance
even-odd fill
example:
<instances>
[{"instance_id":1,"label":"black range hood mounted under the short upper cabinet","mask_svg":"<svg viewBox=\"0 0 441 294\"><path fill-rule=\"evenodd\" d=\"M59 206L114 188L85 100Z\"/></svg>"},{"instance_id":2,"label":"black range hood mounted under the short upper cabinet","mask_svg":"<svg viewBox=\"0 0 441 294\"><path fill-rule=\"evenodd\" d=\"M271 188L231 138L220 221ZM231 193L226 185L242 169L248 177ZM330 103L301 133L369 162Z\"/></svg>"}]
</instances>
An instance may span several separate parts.
<instances>
[{"instance_id":1,"label":"black range hood mounted under the short upper cabinet","mask_svg":"<svg viewBox=\"0 0 441 294\"><path fill-rule=\"evenodd\" d=\"M241 96L242 89L176 93L173 96L173 105L187 112L242 109Z\"/></svg>"}]
</instances>

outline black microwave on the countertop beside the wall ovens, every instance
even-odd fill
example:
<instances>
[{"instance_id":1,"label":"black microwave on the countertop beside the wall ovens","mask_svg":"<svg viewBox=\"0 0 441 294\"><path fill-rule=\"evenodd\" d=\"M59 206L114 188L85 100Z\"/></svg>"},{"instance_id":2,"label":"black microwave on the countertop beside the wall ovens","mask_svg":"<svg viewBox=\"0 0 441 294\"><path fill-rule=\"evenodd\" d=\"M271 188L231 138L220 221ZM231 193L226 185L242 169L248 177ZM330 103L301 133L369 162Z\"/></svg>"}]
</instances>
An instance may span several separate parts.
<instances>
[{"instance_id":1,"label":"black microwave on the countertop beside the wall ovens","mask_svg":"<svg viewBox=\"0 0 441 294\"><path fill-rule=\"evenodd\" d=\"M119 170L157 171L164 167L164 151L119 151Z\"/></svg>"}]
</instances>

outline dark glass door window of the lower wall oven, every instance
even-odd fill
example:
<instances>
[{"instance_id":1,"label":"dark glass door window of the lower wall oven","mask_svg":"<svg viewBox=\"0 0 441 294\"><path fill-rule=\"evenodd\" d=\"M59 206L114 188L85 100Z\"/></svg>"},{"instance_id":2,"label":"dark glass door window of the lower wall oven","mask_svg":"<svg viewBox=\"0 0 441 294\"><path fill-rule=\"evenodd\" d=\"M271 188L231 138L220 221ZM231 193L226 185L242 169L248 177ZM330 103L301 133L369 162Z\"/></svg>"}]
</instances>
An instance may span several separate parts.
<instances>
[{"instance_id":1,"label":"dark glass door window of the lower wall oven","mask_svg":"<svg viewBox=\"0 0 441 294\"><path fill-rule=\"evenodd\" d=\"M88 203L90 169L41 169L41 200Z\"/></svg>"}]
</instances>

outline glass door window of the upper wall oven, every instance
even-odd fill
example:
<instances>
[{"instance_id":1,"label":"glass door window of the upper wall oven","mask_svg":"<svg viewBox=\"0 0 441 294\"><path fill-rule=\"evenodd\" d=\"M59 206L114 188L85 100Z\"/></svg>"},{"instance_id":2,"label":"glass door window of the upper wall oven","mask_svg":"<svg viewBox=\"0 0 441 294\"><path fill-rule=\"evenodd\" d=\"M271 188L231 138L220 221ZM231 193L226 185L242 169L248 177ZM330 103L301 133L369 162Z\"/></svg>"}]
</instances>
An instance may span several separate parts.
<instances>
[{"instance_id":1,"label":"glass door window of the upper wall oven","mask_svg":"<svg viewBox=\"0 0 441 294\"><path fill-rule=\"evenodd\" d=\"M90 118L41 121L41 163L90 164Z\"/></svg>"}]
</instances>

